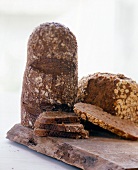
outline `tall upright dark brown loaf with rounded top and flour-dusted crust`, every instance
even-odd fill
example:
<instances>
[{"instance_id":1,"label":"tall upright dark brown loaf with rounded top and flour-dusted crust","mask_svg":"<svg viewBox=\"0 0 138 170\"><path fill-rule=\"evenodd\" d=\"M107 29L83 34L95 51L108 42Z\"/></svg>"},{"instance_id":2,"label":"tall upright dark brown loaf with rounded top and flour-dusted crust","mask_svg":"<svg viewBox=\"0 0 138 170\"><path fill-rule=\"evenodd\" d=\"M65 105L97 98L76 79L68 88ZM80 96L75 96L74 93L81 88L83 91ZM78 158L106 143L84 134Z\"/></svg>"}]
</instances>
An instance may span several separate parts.
<instances>
[{"instance_id":1,"label":"tall upright dark brown loaf with rounded top and flour-dusted crust","mask_svg":"<svg viewBox=\"0 0 138 170\"><path fill-rule=\"evenodd\" d=\"M77 87L75 36L59 23L41 24L28 41L21 97L22 125L33 127L43 111L71 111Z\"/></svg>"}]
</instances>

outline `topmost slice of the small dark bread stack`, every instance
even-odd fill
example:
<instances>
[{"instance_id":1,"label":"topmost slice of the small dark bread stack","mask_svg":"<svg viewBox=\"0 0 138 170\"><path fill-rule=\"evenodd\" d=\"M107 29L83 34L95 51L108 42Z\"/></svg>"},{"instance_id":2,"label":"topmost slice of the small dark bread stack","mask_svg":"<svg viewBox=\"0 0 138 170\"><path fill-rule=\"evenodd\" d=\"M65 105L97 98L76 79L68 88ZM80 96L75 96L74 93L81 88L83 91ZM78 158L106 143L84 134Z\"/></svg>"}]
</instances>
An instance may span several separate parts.
<instances>
[{"instance_id":1,"label":"topmost slice of the small dark bread stack","mask_svg":"<svg viewBox=\"0 0 138 170\"><path fill-rule=\"evenodd\" d=\"M47 111L39 115L35 126L37 122L40 122L41 124L76 123L79 122L79 118L73 112Z\"/></svg>"}]
</instances>

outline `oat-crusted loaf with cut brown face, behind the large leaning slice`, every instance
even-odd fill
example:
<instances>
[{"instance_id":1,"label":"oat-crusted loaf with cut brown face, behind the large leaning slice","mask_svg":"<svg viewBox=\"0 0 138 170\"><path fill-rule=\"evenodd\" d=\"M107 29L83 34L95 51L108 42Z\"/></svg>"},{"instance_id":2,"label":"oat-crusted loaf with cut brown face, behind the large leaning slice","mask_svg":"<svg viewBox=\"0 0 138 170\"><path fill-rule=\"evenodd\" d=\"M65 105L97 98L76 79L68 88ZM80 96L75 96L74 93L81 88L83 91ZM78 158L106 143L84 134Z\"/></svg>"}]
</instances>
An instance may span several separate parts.
<instances>
[{"instance_id":1,"label":"oat-crusted loaf with cut brown face, behind the large leaning slice","mask_svg":"<svg viewBox=\"0 0 138 170\"><path fill-rule=\"evenodd\" d=\"M95 73L79 81L78 101L138 125L138 84L122 74Z\"/></svg>"}]
</instances>

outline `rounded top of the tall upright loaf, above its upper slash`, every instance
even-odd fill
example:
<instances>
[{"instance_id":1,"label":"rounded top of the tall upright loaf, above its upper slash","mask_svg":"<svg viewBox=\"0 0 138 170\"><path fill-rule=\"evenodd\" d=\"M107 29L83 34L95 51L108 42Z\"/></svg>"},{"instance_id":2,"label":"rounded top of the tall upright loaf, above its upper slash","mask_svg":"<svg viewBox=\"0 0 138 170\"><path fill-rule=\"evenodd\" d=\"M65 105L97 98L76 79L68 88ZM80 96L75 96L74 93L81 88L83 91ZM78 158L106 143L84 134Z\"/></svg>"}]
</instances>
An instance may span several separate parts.
<instances>
[{"instance_id":1,"label":"rounded top of the tall upright loaf, above its upper slash","mask_svg":"<svg viewBox=\"0 0 138 170\"><path fill-rule=\"evenodd\" d=\"M30 35L28 41L28 63L46 58L77 61L77 41L74 34L59 23L44 23ZM37 61L38 62L38 61Z\"/></svg>"}]
</instances>

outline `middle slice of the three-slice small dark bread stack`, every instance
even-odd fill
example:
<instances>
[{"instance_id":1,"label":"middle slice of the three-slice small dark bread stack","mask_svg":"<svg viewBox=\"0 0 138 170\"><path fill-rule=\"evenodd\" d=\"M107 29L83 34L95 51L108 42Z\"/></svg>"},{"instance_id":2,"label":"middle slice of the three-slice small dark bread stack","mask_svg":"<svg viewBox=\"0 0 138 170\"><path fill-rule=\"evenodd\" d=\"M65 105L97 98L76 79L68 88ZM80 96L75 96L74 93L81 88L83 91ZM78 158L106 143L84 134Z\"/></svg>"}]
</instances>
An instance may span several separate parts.
<instances>
[{"instance_id":1,"label":"middle slice of the three-slice small dark bread stack","mask_svg":"<svg viewBox=\"0 0 138 170\"><path fill-rule=\"evenodd\" d=\"M79 133L84 129L84 126L80 123L42 124L39 121L36 121L35 128L46 129L48 131Z\"/></svg>"}]
</instances>

